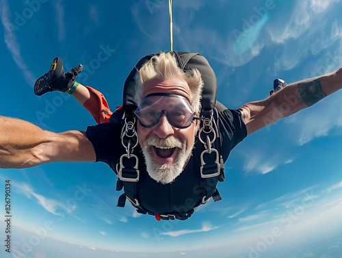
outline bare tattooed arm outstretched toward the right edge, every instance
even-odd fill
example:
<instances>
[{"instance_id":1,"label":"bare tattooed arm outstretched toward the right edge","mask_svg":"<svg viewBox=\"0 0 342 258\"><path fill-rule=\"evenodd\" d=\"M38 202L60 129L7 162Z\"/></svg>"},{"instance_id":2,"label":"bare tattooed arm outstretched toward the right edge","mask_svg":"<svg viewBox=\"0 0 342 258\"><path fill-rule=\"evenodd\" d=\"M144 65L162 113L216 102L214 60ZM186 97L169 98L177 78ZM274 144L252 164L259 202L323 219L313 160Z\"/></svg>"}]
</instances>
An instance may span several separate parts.
<instances>
[{"instance_id":1,"label":"bare tattooed arm outstretched toward the right edge","mask_svg":"<svg viewBox=\"0 0 342 258\"><path fill-rule=\"evenodd\" d=\"M342 88L342 68L334 73L291 83L268 99L242 105L247 133L254 133L273 122L310 107Z\"/></svg>"}]
</instances>

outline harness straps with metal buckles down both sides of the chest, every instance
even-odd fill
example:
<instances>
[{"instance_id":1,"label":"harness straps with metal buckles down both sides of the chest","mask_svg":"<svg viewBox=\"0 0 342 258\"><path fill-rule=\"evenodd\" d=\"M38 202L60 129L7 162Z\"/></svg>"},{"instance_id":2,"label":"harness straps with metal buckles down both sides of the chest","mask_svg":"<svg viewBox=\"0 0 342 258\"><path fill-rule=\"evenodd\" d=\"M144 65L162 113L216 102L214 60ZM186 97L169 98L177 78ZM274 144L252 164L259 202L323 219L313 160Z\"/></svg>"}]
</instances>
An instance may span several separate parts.
<instances>
[{"instance_id":1,"label":"harness straps with metal buckles down both sides of the chest","mask_svg":"<svg viewBox=\"0 0 342 258\"><path fill-rule=\"evenodd\" d=\"M203 113L207 117L202 119L202 127L198 133L198 139L204 146L204 150L200 154L200 161L196 159L196 162L200 164L198 166L198 172L201 176L201 188L202 197L194 209L179 213L172 212L171 214L153 214L142 207L140 201L137 198L139 192L139 158L133 154L135 147L138 144L137 133L135 131L135 118L128 116L124 118L121 133L121 143L124 148L124 153L120 156L118 164L116 164L116 171L118 172L118 181L116 183L116 190L121 191L124 189L124 193L118 198L118 207L124 207L126 199L129 199L131 204L137 209L140 214L150 214L158 216L161 220L186 220L192 214L196 207L207 203L211 197L214 201L220 201L222 197L216 188L218 181L224 181L224 163L222 159L220 133L218 130L218 123L215 121L218 114L214 113L213 109L209 113ZM146 186L146 185L145 185ZM157 217L156 217L157 218Z\"/></svg>"}]
</instances>

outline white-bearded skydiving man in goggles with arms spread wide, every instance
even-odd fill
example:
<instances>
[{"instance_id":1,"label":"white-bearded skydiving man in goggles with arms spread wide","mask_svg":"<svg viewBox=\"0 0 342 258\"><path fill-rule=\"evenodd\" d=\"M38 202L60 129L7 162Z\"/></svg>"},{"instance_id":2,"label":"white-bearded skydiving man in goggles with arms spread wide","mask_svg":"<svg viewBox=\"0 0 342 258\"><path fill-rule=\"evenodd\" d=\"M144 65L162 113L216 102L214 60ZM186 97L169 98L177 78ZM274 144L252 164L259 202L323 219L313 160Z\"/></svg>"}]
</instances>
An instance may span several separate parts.
<instances>
[{"instance_id":1,"label":"white-bearded skydiving man in goggles with arms spread wide","mask_svg":"<svg viewBox=\"0 0 342 258\"><path fill-rule=\"evenodd\" d=\"M52 70L57 69L57 61ZM53 75L38 79L35 93L61 90L73 94L101 124L86 131L53 133L23 120L1 117L0 167L105 162L118 175L117 190L124 187L119 206L128 199L138 212L158 220L185 220L210 197L220 199L216 184L224 179L224 162L248 134L342 88L339 69L291 83L239 109L218 103L207 111L205 70L195 64L180 66L177 53L159 53L145 61L135 72L132 103L136 107L131 113L128 107L114 114L102 108L107 102L100 93L75 82L81 66L65 75L61 68L50 70Z\"/></svg>"}]
</instances>

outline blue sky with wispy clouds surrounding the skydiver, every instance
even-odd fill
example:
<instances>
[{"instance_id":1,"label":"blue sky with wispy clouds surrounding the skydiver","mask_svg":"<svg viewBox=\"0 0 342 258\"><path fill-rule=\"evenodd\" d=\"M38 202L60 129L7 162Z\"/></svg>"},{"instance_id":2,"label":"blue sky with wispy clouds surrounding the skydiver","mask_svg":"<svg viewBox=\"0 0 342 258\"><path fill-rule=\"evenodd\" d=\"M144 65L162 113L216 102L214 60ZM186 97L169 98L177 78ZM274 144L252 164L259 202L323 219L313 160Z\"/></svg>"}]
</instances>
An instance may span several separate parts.
<instances>
[{"instance_id":1,"label":"blue sky with wispy clouds surrounding the skydiver","mask_svg":"<svg viewBox=\"0 0 342 258\"><path fill-rule=\"evenodd\" d=\"M173 1L174 50L207 57L226 107L342 66L339 0ZM94 120L71 97L38 97L55 57L111 109L144 55L170 51L168 1L0 0L0 115L50 131ZM186 221L116 207L105 164L0 169L12 188L12 253L1 257L341 257L342 92L248 136L226 162L223 200ZM3 198L2 198L3 199ZM0 214L5 214L1 201ZM1 215L0 237L5 237Z\"/></svg>"}]
</instances>

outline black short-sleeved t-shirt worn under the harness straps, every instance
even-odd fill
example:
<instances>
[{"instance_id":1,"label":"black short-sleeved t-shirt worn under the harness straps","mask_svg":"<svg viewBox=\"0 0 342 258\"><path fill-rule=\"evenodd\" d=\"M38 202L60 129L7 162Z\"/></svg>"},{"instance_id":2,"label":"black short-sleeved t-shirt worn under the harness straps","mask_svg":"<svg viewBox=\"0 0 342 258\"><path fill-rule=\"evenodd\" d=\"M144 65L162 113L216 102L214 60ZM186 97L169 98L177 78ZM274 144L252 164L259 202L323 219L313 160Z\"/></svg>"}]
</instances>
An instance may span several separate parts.
<instances>
[{"instance_id":1,"label":"black short-sleeved t-shirt worn under the harness straps","mask_svg":"<svg viewBox=\"0 0 342 258\"><path fill-rule=\"evenodd\" d=\"M226 109L219 112L219 129L222 133L222 157L228 159L231 150L243 140L246 126L238 109ZM114 172L120 158L122 147L121 128L114 123L105 123L88 127L86 135L96 152L96 162L105 162ZM151 179L140 146L137 146L140 180L136 184L137 201L142 207L154 214L172 214L193 209L202 199L202 178L200 176L200 154L203 144L196 138L192 157L184 171L175 181L166 185Z\"/></svg>"}]
</instances>

